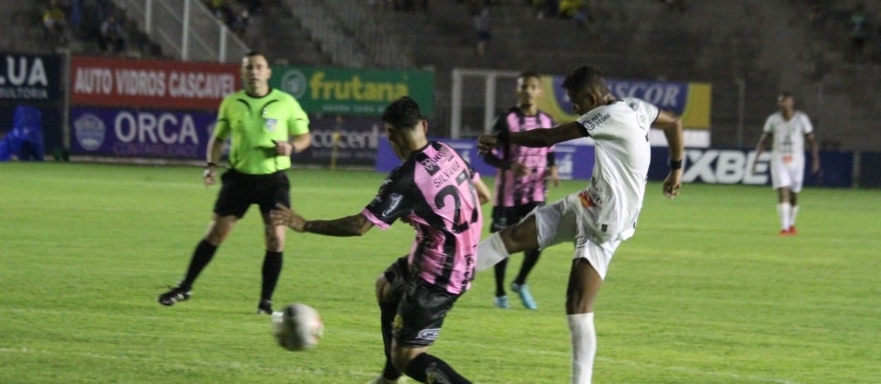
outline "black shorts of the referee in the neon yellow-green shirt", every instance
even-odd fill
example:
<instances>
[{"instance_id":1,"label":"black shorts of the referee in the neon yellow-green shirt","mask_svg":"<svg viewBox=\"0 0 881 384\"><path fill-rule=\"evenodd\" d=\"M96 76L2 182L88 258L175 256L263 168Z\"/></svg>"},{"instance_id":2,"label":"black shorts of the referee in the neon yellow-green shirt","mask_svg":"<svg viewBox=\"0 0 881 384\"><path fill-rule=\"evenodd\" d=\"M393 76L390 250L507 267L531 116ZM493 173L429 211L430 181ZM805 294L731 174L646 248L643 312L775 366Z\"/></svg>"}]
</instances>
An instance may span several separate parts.
<instances>
[{"instance_id":1,"label":"black shorts of the referee in the neon yellow-green shirt","mask_svg":"<svg viewBox=\"0 0 881 384\"><path fill-rule=\"evenodd\" d=\"M214 202L214 213L218 216L234 215L241 219L251 204L260 205L263 214L268 214L277 203L291 206L291 182L284 170L267 175L227 170L220 179L223 186Z\"/></svg>"}]
</instances>

